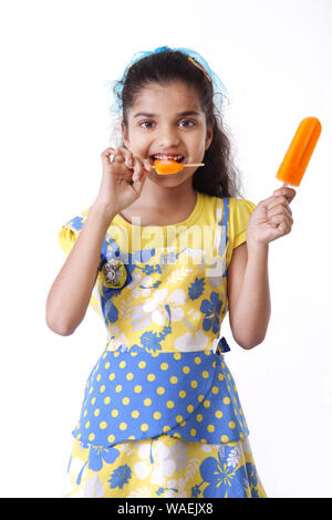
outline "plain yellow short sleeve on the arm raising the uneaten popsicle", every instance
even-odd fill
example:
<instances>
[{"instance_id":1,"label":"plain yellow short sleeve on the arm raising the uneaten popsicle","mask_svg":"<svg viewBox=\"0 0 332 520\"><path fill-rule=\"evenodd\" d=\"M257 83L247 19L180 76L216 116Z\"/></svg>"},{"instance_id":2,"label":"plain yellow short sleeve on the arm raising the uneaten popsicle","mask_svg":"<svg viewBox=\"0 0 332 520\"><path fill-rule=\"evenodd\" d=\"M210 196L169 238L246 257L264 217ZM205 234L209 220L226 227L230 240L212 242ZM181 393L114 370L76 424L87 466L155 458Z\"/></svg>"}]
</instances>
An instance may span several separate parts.
<instances>
[{"instance_id":1,"label":"plain yellow short sleeve on the arm raising the uneaten popsicle","mask_svg":"<svg viewBox=\"0 0 332 520\"><path fill-rule=\"evenodd\" d=\"M227 266L231 260L234 249L247 240L247 226L255 208L256 205L250 202L250 200L230 198Z\"/></svg>"}]
</instances>

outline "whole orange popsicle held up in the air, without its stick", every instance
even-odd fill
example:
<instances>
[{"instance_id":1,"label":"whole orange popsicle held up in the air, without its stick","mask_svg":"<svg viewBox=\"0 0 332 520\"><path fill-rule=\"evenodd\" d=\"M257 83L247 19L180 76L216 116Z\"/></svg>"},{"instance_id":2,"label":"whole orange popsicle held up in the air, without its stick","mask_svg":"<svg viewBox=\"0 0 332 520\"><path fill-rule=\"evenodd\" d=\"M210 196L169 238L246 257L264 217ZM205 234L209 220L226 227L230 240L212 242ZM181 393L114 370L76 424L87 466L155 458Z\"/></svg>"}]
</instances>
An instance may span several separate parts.
<instances>
[{"instance_id":1,"label":"whole orange popsicle held up in the air, without its stick","mask_svg":"<svg viewBox=\"0 0 332 520\"><path fill-rule=\"evenodd\" d=\"M301 121L279 167L277 174L279 180L291 186L300 186L321 131L322 125L317 117L305 117Z\"/></svg>"}]
</instances>

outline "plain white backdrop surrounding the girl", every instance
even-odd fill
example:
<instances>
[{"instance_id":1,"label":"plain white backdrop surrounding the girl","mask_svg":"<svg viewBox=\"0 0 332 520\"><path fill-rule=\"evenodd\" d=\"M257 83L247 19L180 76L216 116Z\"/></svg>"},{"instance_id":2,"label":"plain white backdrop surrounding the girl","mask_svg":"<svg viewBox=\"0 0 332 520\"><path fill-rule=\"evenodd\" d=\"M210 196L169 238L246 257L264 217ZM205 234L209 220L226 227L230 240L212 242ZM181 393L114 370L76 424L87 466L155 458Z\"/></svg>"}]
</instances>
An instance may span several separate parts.
<instances>
[{"instance_id":1,"label":"plain white backdrop surrounding the girl","mask_svg":"<svg viewBox=\"0 0 332 520\"><path fill-rule=\"evenodd\" d=\"M225 115L245 197L280 183L303 117L322 135L292 202L292 233L271 243L272 318L247 352L225 335L270 497L332 497L330 0L30 0L2 2L2 497L60 497L71 429L106 331L89 310L72 336L45 325L64 253L58 232L93 202L108 146L105 84L136 51L197 50L230 95Z\"/></svg>"}]
</instances>

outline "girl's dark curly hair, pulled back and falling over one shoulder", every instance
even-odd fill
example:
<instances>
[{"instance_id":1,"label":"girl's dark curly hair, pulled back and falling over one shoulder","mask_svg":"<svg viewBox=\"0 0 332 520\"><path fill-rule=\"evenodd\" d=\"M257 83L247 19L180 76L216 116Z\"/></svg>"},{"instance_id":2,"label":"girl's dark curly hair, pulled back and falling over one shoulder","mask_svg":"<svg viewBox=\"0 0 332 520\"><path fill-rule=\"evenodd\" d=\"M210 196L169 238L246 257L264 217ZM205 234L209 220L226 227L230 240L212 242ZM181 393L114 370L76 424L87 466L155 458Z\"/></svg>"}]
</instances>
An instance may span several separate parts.
<instances>
[{"instance_id":1,"label":"girl's dark curly hair, pulled back and falling over one shoulder","mask_svg":"<svg viewBox=\"0 0 332 520\"><path fill-rule=\"evenodd\" d=\"M113 92L122 107L124 125L128 126L127 111L134 105L141 89L149 83L166 85L173 81L196 87L207 126L214 131L212 142L204 156L205 166L193 176L194 189L218 197L239 196L239 176L221 114L214 103L212 83L201 70L193 65L185 53L165 50L147 55L129 66L123 80L115 83Z\"/></svg>"}]
</instances>

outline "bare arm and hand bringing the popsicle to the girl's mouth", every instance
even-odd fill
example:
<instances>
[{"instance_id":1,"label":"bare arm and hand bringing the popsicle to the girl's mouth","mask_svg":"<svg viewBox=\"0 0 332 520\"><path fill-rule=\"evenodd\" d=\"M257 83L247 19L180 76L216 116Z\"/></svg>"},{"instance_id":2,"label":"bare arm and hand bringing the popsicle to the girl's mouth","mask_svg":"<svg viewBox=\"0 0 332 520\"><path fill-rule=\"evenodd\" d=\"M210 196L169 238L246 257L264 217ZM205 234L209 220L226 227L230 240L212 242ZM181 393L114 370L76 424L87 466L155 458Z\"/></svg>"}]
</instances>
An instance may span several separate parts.
<instances>
[{"instance_id":1,"label":"bare arm and hand bringing the popsicle to the girl's mouth","mask_svg":"<svg viewBox=\"0 0 332 520\"><path fill-rule=\"evenodd\" d=\"M114 160L111 162L111 155ZM98 272L101 250L115 215L141 195L152 170L126 148L106 148L102 153L103 177L98 195L46 300L46 324L61 335L70 335L84 319Z\"/></svg>"}]
</instances>

